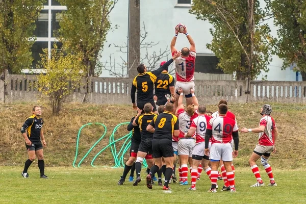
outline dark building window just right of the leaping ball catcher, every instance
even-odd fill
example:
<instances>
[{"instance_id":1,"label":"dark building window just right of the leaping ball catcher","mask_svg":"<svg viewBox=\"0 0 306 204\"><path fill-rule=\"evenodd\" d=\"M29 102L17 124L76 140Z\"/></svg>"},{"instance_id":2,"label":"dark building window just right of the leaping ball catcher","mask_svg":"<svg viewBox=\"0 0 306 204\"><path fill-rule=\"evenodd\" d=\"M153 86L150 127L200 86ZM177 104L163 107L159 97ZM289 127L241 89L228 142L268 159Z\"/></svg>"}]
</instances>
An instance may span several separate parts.
<instances>
[{"instance_id":1,"label":"dark building window just right of the leaping ball catcher","mask_svg":"<svg viewBox=\"0 0 306 204\"><path fill-rule=\"evenodd\" d=\"M219 59L211 55L197 55L195 58L195 72L201 73L224 73L222 69L217 69Z\"/></svg>"}]
</instances>

